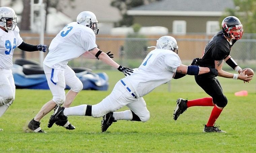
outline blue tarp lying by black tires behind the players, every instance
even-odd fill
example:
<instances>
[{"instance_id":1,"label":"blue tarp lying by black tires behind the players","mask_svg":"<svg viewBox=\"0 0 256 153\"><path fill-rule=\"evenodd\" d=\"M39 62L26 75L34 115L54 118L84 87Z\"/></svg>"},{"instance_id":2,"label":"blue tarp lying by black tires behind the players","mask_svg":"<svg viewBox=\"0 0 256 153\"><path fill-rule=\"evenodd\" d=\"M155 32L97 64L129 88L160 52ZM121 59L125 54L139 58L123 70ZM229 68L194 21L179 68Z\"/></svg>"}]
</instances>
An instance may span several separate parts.
<instances>
[{"instance_id":1,"label":"blue tarp lying by black tires behind the players","mask_svg":"<svg viewBox=\"0 0 256 153\"><path fill-rule=\"evenodd\" d=\"M16 88L26 89L49 89L47 80L44 74L25 75L23 67L13 64L12 72ZM93 73L90 71L83 71L75 73L75 75L82 81L83 90L107 90L108 76L106 73ZM66 86L66 89L70 89Z\"/></svg>"}]
</instances>

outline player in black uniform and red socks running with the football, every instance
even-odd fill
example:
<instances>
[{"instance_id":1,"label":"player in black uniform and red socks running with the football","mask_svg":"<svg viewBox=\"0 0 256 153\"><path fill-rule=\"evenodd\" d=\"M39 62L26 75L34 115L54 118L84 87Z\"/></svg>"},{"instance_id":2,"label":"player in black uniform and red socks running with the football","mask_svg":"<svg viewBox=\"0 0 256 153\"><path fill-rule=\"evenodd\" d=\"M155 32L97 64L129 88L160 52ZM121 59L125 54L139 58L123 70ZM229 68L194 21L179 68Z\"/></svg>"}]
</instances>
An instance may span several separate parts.
<instances>
[{"instance_id":1,"label":"player in black uniform and red socks running with the football","mask_svg":"<svg viewBox=\"0 0 256 153\"><path fill-rule=\"evenodd\" d=\"M191 65L200 67L212 67L218 70L218 76L224 78L233 78L249 82L252 76L246 76L245 71L240 73L242 69L229 55L233 44L242 38L243 25L235 16L228 16L222 21L222 30L218 32L206 44L202 58L196 58ZM224 61L232 67L238 74L228 73L222 70ZM211 97L190 100L179 98L174 110L173 119L177 120L180 114L192 106L213 106L212 113L207 124L204 124L203 132L225 132L215 126L215 121L221 114L223 108L227 105L228 100L223 94L222 87L218 79L209 74L202 74L195 76L196 83Z\"/></svg>"}]
</instances>

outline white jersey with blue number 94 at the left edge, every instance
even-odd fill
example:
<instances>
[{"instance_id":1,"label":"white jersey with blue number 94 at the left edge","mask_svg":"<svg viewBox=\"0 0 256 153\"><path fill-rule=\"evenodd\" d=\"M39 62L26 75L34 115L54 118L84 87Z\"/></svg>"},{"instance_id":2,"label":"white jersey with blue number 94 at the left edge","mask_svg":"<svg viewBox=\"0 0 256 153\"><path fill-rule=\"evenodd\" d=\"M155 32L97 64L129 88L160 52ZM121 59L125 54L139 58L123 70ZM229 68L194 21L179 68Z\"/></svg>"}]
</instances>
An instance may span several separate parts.
<instances>
[{"instance_id":1,"label":"white jersey with blue number 94 at the left edge","mask_svg":"<svg viewBox=\"0 0 256 153\"><path fill-rule=\"evenodd\" d=\"M19 32L18 26L8 32L0 29L0 68L2 69L12 68L13 51L23 42Z\"/></svg>"}]
</instances>

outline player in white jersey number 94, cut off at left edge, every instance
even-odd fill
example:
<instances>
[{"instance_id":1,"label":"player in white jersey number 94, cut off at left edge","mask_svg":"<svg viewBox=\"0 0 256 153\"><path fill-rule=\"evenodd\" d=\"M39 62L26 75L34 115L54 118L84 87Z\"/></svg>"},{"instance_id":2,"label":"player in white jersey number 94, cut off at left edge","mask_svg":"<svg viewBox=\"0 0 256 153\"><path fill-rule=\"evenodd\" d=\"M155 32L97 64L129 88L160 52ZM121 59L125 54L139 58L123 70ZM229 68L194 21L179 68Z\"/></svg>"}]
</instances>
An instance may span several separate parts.
<instances>
[{"instance_id":1,"label":"player in white jersey number 94, cut off at left edge","mask_svg":"<svg viewBox=\"0 0 256 153\"><path fill-rule=\"evenodd\" d=\"M20 36L17 16L10 7L0 7L0 117L15 99L12 56L16 47L25 51L46 51L46 45L31 45Z\"/></svg>"}]
</instances>

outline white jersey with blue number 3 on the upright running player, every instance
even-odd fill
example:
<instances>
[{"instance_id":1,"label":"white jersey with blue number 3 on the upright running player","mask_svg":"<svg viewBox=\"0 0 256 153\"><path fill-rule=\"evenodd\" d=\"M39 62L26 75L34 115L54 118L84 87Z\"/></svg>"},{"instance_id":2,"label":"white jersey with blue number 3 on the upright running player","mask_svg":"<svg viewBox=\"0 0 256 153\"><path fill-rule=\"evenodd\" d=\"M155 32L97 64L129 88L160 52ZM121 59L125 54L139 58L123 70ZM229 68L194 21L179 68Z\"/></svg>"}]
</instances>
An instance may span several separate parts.
<instances>
[{"instance_id":1,"label":"white jersey with blue number 3 on the upright running player","mask_svg":"<svg viewBox=\"0 0 256 153\"><path fill-rule=\"evenodd\" d=\"M52 40L43 64L53 69L64 70L68 61L97 47L95 42L96 36L91 28L71 22Z\"/></svg>"}]
</instances>

